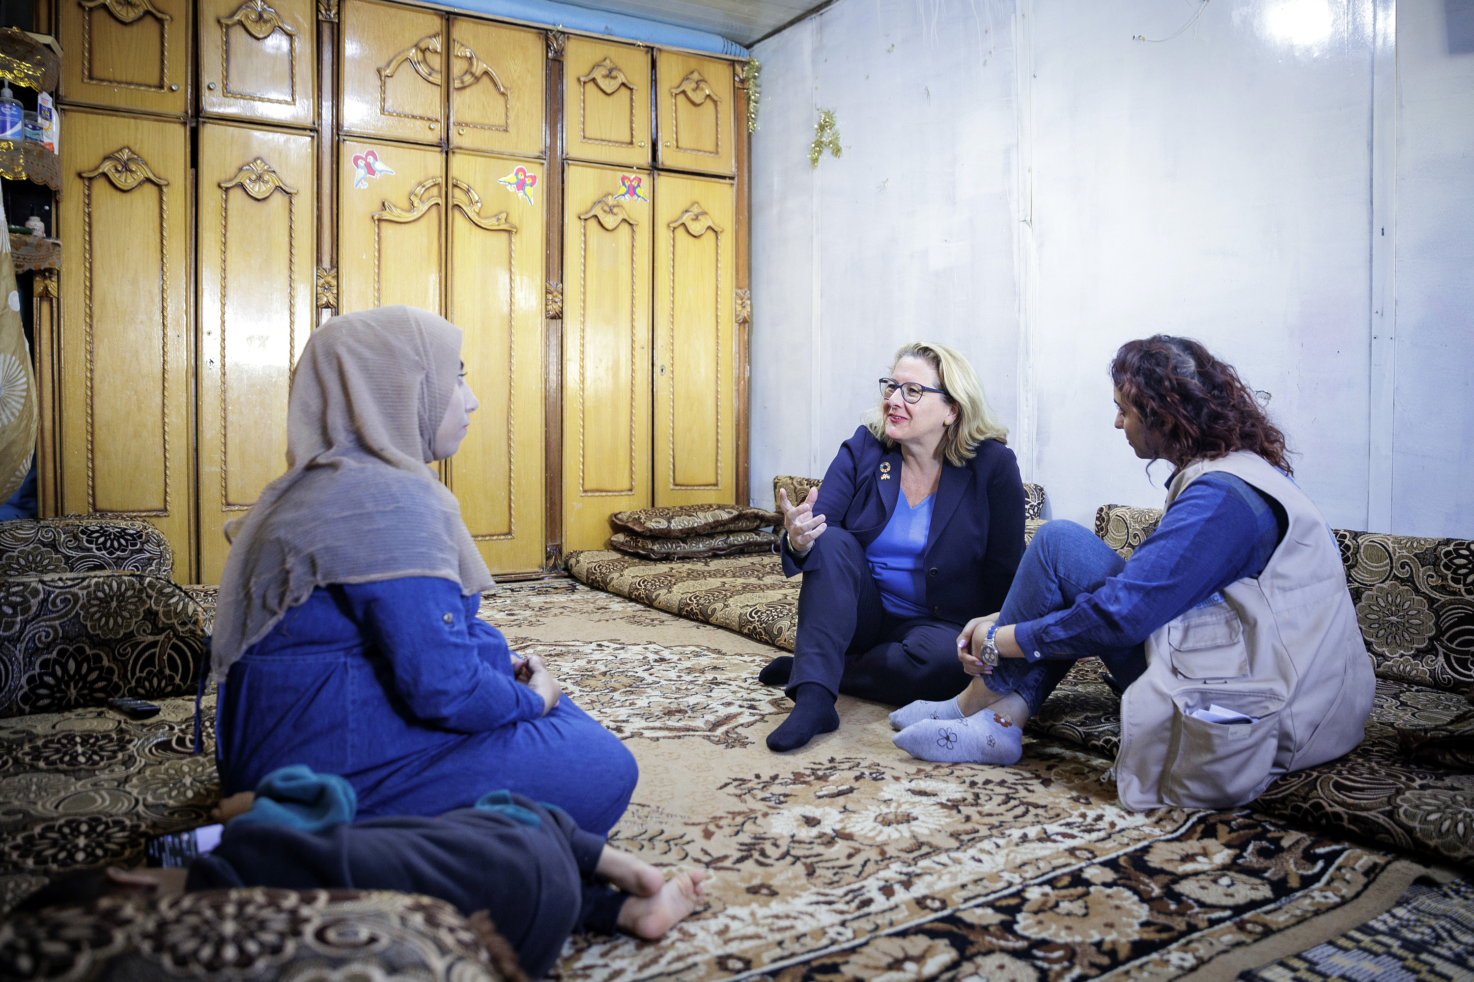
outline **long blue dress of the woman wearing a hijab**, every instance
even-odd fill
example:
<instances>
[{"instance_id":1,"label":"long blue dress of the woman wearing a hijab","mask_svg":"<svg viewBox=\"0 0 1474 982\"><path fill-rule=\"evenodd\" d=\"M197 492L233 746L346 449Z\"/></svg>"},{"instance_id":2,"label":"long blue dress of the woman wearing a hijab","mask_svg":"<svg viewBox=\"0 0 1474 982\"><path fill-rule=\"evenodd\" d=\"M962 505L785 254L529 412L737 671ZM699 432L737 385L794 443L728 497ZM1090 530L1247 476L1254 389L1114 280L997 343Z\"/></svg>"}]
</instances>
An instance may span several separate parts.
<instances>
[{"instance_id":1,"label":"long blue dress of the woman wearing a hijab","mask_svg":"<svg viewBox=\"0 0 1474 982\"><path fill-rule=\"evenodd\" d=\"M360 819L438 816L509 789L606 835L634 794L634 755L567 695L542 716L479 604L435 577L314 590L226 676L226 794L305 764L346 777Z\"/></svg>"}]
</instances>

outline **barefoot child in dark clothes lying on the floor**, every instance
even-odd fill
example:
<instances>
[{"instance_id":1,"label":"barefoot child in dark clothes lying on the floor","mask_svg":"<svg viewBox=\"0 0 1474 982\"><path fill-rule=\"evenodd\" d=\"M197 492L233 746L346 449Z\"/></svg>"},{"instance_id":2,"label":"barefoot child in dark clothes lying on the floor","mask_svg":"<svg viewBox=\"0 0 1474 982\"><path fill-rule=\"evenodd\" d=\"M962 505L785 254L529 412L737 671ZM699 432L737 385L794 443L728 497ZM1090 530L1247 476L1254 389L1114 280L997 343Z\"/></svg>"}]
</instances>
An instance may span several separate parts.
<instances>
[{"instance_id":1,"label":"barefoot child in dark clothes lying on the floor","mask_svg":"<svg viewBox=\"0 0 1474 982\"><path fill-rule=\"evenodd\" d=\"M489 917L532 978L557 961L573 930L618 928L654 939L702 898L706 870L665 880L657 869L584 832L566 811L506 791L438 819L352 823L352 785L302 766L276 770L221 802L226 830L186 869L108 867L62 877L16 911L88 902L103 894L168 895L233 886L389 889Z\"/></svg>"}]
</instances>

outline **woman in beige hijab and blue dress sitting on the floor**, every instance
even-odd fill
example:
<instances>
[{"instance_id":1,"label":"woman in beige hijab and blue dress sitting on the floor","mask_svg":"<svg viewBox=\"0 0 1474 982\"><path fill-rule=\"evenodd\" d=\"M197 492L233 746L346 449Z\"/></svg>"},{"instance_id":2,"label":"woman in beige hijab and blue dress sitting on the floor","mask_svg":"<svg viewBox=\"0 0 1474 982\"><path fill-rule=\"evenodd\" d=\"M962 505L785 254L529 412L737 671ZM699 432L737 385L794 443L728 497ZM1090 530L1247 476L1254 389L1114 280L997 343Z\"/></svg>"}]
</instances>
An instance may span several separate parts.
<instances>
[{"instance_id":1,"label":"woman in beige hijab and blue dress sitting on the floor","mask_svg":"<svg viewBox=\"0 0 1474 982\"><path fill-rule=\"evenodd\" d=\"M604 835L638 770L537 657L476 617L491 574L426 467L476 409L461 331L405 306L307 343L287 471L231 523L212 665L226 794L289 764L342 774L363 819L510 789Z\"/></svg>"}]
</instances>

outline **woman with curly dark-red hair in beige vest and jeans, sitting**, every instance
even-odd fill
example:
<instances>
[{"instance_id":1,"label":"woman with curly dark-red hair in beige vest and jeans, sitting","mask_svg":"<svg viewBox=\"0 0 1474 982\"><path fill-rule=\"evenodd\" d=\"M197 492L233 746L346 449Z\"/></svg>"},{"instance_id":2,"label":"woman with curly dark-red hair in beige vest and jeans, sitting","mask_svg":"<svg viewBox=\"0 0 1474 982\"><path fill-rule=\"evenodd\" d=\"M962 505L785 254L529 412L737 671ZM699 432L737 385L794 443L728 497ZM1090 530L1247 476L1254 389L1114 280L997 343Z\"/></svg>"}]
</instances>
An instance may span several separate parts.
<instances>
[{"instance_id":1,"label":"woman with curly dark-red hair in beige vest and jeans, sitting","mask_svg":"<svg viewBox=\"0 0 1474 982\"><path fill-rule=\"evenodd\" d=\"M1176 468L1162 524L1131 559L1075 523L1039 529L1002 610L958 636L973 682L893 713L895 742L1011 764L1020 727L1094 655L1123 692L1122 802L1240 805L1362 739L1375 680L1340 549L1232 365L1157 334L1123 345L1110 377L1116 428Z\"/></svg>"}]
</instances>

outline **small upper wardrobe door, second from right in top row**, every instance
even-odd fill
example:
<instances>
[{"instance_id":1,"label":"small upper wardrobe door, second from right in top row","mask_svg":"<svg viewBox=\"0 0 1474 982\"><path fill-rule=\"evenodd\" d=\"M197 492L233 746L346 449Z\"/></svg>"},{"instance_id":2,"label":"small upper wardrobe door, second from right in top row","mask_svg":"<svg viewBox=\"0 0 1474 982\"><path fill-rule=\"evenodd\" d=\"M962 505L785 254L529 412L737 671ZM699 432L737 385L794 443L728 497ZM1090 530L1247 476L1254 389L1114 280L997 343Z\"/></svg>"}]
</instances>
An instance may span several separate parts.
<instances>
[{"instance_id":1,"label":"small upper wardrobe door, second from right in top row","mask_svg":"<svg viewBox=\"0 0 1474 982\"><path fill-rule=\"evenodd\" d=\"M650 52L570 37L563 53L565 153L650 165Z\"/></svg>"}]
</instances>

